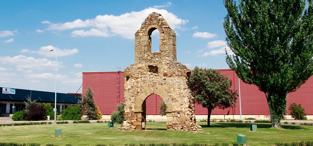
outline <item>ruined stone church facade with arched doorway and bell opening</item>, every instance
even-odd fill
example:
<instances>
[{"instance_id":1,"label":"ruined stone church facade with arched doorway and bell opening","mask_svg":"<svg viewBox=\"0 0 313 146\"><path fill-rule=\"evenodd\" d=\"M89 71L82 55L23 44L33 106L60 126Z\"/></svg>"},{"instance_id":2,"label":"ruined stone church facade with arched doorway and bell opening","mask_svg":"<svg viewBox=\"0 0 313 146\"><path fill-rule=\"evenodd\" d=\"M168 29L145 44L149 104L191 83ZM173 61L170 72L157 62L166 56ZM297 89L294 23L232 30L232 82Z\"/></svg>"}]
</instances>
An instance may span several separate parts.
<instances>
[{"instance_id":1,"label":"ruined stone church facade with arched doorway and bell opening","mask_svg":"<svg viewBox=\"0 0 313 146\"><path fill-rule=\"evenodd\" d=\"M160 51L151 52L151 34L156 29L160 32ZM177 62L176 33L161 14L149 14L135 33L135 63L125 69L126 121L119 128L145 129L146 98L155 93L167 106L168 130L202 130L196 123L194 97L188 88L190 73L186 65Z\"/></svg>"}]
</instances>

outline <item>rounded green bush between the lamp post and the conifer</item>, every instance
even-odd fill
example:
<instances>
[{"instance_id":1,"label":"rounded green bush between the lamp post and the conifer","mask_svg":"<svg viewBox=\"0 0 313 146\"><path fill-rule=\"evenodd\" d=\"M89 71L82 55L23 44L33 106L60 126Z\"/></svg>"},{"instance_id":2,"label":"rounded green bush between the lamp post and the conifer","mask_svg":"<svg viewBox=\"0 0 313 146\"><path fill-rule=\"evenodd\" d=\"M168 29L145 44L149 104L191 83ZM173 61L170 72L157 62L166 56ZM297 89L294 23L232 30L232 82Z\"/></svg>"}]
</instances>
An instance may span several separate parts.
<instances>
[{"instance_id":1,"label":"rounded green bush between the lamp post and the conifer","mask_svg":"<svg viewBox=\"0 0 313 146\"><path fill-rule=\"evenodd\" d=\"M82 119L82 111L79 109L79 105L76 106L68 106L61 113L61 120L81 120Z\"/></svg>"}]
</instances>

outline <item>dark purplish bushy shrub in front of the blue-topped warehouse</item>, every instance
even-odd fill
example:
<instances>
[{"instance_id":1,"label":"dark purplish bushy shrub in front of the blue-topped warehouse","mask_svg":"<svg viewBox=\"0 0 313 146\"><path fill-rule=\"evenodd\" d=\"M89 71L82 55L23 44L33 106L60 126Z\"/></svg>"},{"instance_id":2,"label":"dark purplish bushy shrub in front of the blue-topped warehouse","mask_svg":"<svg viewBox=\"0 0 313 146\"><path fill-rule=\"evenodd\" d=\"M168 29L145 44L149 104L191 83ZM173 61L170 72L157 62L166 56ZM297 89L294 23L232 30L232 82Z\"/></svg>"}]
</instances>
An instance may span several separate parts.
<instances>
[{"instance_id":1,"label":"dark purplish bushy shrub in front of the blue-topped warehouse","mask_svg":"<svg viewBox=\"0 0 313 146\"><path fill-rule=\"evenodd\" d=\"M24 119L27 121L38 121L44 119L45 108L42 104L38 104L37 100L30 100L27 96L27 102L25 102L26 110L24 110Z\"/></svg>"}]
</instances>

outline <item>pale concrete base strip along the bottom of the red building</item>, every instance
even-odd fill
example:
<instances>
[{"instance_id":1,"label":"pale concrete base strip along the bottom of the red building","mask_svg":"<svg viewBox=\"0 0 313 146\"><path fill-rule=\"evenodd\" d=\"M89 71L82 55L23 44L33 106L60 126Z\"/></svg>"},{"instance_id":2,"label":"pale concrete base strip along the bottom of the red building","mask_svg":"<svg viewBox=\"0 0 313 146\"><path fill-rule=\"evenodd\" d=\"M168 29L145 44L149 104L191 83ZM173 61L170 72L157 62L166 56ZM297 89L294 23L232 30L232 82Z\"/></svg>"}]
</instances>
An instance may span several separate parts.
<instances>
[{"instance_id":1,"label":"pale concrete base strip along the bottom of the red building","mask_svg":"<svg viewBox=\"0 0 313 146\"><path fill-rule=\"evenodd\" d=\"M308 118L308 120L313 120L313 115L307 115L306 116ZM196 119L197 120L207 120L208 115L196 115ZM241 119L245 120L246 118L255 118L257 120L270 120L270 116L269 115L241 115ZM111 120L111 116L110 115L102 115L102 120ZM211 120L212 119L240 119L240 115L211 115ZM293 120L293 118L291 118L290 115L286 116L287 120ZM166 121L166 116L161 116L161 115L147 115L146 120L162 120L162 121Z\"/></svg>"}]
</instances>

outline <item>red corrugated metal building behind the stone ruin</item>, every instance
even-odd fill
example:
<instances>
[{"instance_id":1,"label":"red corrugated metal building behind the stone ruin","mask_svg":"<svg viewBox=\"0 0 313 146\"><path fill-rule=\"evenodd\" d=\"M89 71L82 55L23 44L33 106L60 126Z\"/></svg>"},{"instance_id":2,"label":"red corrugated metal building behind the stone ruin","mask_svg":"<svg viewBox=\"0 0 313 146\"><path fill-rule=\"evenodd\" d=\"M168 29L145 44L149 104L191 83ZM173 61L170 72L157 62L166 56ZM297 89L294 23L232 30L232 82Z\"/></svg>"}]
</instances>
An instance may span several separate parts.
<instances>
[{"instance_id":1,"label":"red corrugated metal building behind the stone ruin","mask_svg":"<svg viewBox=\"0 0 313 146\"><path fill-rule=\"evenodd\" d=\"M220 69L222 74L227 75L233 82L233 88L239 93L238 77L231 69ZM85 72L82 76L82 89L90 86L94 91L99 110L103 115L110 115L117 111L116 106L124 102L124 72ZM313 77L311 76L296 92L288 94L287 106L295 102L305 108L307 115L313 115ZM240 81L241 91L241 114L242 115L269 115L268 104L263 92L255 85L245 84ZM146 99L146 114L158 115L159 101L161 97L156 94ZM196 115L207 115L207 109L195 104ZM221 110L215 108L211 115L239 115L239 97L236 107Z\"/></svg>"}]
</instances>

